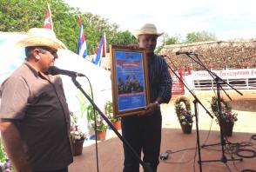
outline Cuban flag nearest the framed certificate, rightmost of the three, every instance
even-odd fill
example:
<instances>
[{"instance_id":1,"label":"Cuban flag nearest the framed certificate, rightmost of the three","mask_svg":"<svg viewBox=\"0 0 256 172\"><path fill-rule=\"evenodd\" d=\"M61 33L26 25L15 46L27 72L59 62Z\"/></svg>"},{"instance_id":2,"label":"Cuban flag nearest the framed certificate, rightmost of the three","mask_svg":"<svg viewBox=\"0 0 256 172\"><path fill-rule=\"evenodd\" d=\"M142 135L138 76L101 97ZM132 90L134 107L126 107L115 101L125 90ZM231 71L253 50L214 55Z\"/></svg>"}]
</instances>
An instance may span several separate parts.
<instances>
[{"instance_id":1,"label":"Cuban flag nearest the framed certificate, rightmost of the three","mask_svg":"<svg viewBox=\"0 0 256 172\"><path fill-rule=\"evenodd\" d=\"M101 59L102 57L104 57L106 55L106 41L105 41L105 34L103 34L101 37L100 37L100 41L98 43L98 47L97 49L95 50L95 55L94 57L92 58L92 63L100 66L100 63L101 63Z\"/></svg>"}]
</instances>

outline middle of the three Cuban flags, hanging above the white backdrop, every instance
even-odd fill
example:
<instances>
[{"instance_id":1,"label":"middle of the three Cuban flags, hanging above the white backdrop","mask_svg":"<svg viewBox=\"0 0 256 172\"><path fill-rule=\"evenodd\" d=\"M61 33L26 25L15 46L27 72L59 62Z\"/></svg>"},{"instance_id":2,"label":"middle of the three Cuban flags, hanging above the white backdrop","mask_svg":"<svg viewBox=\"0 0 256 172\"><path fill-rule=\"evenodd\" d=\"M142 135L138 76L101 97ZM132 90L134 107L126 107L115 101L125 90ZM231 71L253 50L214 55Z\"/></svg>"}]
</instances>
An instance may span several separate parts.
<instances>
[{"instance_id":1,"label":"middle of the three Cuban flags, hanging above the white backdrop","mask_svg":"<svg viewBox=\"0 0 256 172\"><path fill-rule=\"evenodd\" d=\"M87 52L86 40L84 35L84 27L82 24L81 17L78 17L78 23L80 25L80 30L79 30L79 37L78 37L77 55L85 58L88 55L88 52Z\"/></svg>"}]
</instances>

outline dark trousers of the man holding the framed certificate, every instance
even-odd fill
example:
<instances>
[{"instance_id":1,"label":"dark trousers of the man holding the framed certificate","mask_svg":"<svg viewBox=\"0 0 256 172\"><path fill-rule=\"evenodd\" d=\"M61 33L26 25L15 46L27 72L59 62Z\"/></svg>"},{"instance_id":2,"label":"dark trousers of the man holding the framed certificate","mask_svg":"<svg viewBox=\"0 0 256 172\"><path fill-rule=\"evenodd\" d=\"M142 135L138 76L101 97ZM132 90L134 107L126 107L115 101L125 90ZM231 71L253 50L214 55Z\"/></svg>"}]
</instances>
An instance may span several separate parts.
<instances>
[{"instance_id":1,"label":"dark trousers of the man holding the framed certificate","mask_svg":"<svg viewBox=\"0 0 256 172\"><path fill-rule=\"evenodd\" d=\"M126 116L122 118L122 135L138 156L143 151L143 162L152 172L158 169L161 144L162 116L160 111L152 116ZM124 144L125 162L123 172L139 172L139 162ZM145 170L146 171L146 170Z\"/></svg>"}]
</instances>

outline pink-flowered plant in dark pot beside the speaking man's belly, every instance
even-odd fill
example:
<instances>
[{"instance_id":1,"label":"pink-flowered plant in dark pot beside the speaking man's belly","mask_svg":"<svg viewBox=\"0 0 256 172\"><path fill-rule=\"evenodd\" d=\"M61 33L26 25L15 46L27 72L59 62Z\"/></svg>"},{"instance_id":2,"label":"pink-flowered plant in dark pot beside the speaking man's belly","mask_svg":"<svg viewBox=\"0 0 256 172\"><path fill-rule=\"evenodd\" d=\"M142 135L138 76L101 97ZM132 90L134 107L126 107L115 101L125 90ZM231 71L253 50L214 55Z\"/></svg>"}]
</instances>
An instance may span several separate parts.
<instances>
[{"instance_id":1,"label":"pink-flowered plant in dark pot beside the speaking man's belly","mask_svg":"<svg viewBox=\"0 0 256 172\"><path fill-rule=\"evenodd\" d=\"M77 116L71 114L71 149L73 155L81 155L83 152L84 140L87 135L77 126Z\"/></svg>"}]
</instances>

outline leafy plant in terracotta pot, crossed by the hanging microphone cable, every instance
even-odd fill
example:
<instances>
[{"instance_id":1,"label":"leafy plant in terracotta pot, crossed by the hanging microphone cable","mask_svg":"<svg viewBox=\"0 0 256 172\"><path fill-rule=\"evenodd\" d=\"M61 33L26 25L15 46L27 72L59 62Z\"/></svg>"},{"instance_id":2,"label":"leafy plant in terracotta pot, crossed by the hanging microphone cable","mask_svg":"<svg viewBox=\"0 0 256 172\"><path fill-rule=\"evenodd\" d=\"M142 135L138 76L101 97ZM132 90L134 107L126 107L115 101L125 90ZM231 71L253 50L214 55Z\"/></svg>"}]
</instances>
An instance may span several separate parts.
<instances>
[{"instance_id":1,"label":"leafy plant in terracotta pot, crossed by the hanging microphone cable","mask_svg":"<svg viewBox=\"0 0 256 172\"><path fill-rule=\"evenodd\" d=\"M94 109L93 106L90 104L87 106L87 120L90 123L91 129L94 129L95 122L94 122ZM95 117L96 117L96 135L98 140L104 140L106 136L106 130L108 128L107 123L104 121L103 117L98 114L98 111L95 110Z\"/></svg>"}]
</instances>

